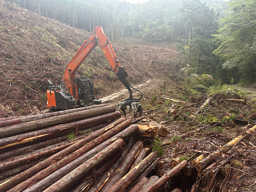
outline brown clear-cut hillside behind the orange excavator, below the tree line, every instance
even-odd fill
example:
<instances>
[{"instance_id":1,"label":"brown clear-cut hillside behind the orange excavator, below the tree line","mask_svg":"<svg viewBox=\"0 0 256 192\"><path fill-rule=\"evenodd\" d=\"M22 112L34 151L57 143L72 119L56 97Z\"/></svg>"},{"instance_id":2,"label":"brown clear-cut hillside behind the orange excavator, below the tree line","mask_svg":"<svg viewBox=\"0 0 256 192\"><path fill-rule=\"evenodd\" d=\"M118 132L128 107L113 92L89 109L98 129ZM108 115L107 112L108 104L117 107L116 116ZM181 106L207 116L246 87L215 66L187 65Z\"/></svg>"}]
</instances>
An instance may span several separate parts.
<instances>
[{"instance_id":1,"label":"brown clear-cut hillside behind the orange excavator, below the tree line","mask_svg":"<svg viewBox=\"0 0 256 192\"><path fill-rule=\"evenodd\" d=\"M47 80L60 80L68 60L89 35L56 20L0 2L0 116L26 115L29 107L46 106ZM126 42L112 43L129 74L141 84L155 78L173 77L176 52ZM97 98L122 90L99 47L79 68L95 86ZM128 94L128 93L127 93Z\"/></svg>"}]
</instances>

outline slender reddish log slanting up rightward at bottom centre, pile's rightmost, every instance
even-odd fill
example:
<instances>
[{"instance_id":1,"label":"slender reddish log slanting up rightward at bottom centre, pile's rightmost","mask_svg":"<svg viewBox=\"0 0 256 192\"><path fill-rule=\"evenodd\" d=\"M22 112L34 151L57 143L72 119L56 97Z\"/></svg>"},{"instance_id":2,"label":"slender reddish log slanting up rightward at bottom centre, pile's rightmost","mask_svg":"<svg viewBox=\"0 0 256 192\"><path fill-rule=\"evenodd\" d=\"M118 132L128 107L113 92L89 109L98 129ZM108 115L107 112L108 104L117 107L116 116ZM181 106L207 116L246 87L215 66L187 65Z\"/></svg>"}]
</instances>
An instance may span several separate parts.
<instances>
[{"instance_id":1,"label":"slender reddish log slanting up rightward at bottom centre, pile's rightmost","mask_svg":"<svg viewBox=\"0 0 256 192\"><path fill-rule=\"evenodd\" d=\"M179 173L184 167L188 165L187 161L182 161L176 167L171 169L170 171L166 172L160 179L158 179L154 185L148 187L144 192L155 192L163 185L165 185L172 177L174 177L177 173ZM113 191L114 192L114 191Z\"/></svg>"}]
</instances>

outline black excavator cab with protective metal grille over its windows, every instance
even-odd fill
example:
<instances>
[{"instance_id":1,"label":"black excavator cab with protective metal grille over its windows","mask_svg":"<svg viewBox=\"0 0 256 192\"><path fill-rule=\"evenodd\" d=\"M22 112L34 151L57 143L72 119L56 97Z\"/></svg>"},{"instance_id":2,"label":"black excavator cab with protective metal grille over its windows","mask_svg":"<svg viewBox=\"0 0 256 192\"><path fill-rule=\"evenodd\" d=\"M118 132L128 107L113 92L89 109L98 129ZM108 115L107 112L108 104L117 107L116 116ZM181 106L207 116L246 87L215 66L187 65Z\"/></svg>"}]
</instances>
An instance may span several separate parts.
<instances>
[{"instance_id":1,"label":"black excavator cab with protective metal grille over its windows","mask_svg":"<svg viewBox=\"0 0 256 192\"><path fill-rule=\"evenodd\" d=\"M75 82L75 81L74 81ZM77 77L78 103L81 106L90 106L94 104L94 88L88 77Z\"/></svg>"}]
</instances>

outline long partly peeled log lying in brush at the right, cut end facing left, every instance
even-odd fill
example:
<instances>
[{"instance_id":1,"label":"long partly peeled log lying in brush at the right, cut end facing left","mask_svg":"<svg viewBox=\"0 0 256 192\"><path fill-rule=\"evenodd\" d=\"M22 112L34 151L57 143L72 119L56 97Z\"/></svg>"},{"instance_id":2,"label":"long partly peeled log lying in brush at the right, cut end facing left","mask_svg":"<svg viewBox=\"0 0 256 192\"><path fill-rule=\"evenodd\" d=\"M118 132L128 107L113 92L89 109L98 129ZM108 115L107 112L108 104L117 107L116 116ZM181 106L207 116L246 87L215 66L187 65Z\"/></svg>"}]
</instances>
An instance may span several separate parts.
<instances>
[{"instance_id":1,"label":"long partly peeled log lying in brush at the right, cut end facing left","mask_svg":"<svg viewBox=\"0 0 256 192\"><path fill-rule=\"evenodd\" d=\"M246 134L254 133L255 130L256 130L256 125L250 129L248 129L246 131ZM198 172L202 172L203 169L205 169L206 167L208 167L215 161L215 158L221 156L222 153L227 153L230 148L232 148L238 141L240 141L243 138L244 138L244 135L240 135L240 136L236 137L235 139L229 141L227 144L223 145L221 148L214 151L209 156L207 156L204 159L202 159L201 161L195 163L196 170Z\"/></svg>"}]
</instances>

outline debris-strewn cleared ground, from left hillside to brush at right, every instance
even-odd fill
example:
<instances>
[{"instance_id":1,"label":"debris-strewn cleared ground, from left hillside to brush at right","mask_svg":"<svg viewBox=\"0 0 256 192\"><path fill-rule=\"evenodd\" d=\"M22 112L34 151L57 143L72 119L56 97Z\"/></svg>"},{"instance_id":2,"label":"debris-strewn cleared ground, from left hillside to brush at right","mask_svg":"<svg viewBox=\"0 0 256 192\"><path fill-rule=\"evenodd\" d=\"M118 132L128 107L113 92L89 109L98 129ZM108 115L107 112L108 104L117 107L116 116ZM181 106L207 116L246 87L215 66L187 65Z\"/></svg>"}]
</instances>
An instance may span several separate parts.
<instances>
[{"instance_id":1,"label":"debris-strewn cleared ground, from left hillside to brush at right","mask_svg":"<svg viewBox=\"0 0 256 192\"><path fill-rule=\"evenodd\" d=\"M40 110L46 109L47 80L60 81L68 60L88 35L82 29L71 28L1 1L0 117L28 115L32 113L33 105ZM129 75L128 80L143 92L140 103L144 110L158 108L144 113L144 121L139 124L148 124L152 120L162 122L172 133L159 137L164 147L161 158L165 162L162 169L155 170L159 176L170 170L172 159L187 159L202 153L208 155L237 136L245 136L245 126L256 123L255 95L232 88L211 93L188 92L186 84L178 82L182 75L173 45L149 46L141 42L113 42L112 45ZM99 47L81 65L77 76L92 79L95 98L103 103L116 105L129 96ZM139 95L136 91L133 93L134 97ZM166 100L163 95L179 102ZM210 98L209 103L200 108L207 98ZM256 191L255 139L255 133L247 134L236 146L216 158L218 163L227 158L229 161L224 165L226 168L218 169L213 177L198 176L197 173L188 177L181 173L162 191L170 192L176 187L192 192Z\"/></svg>"}]
</instances>

